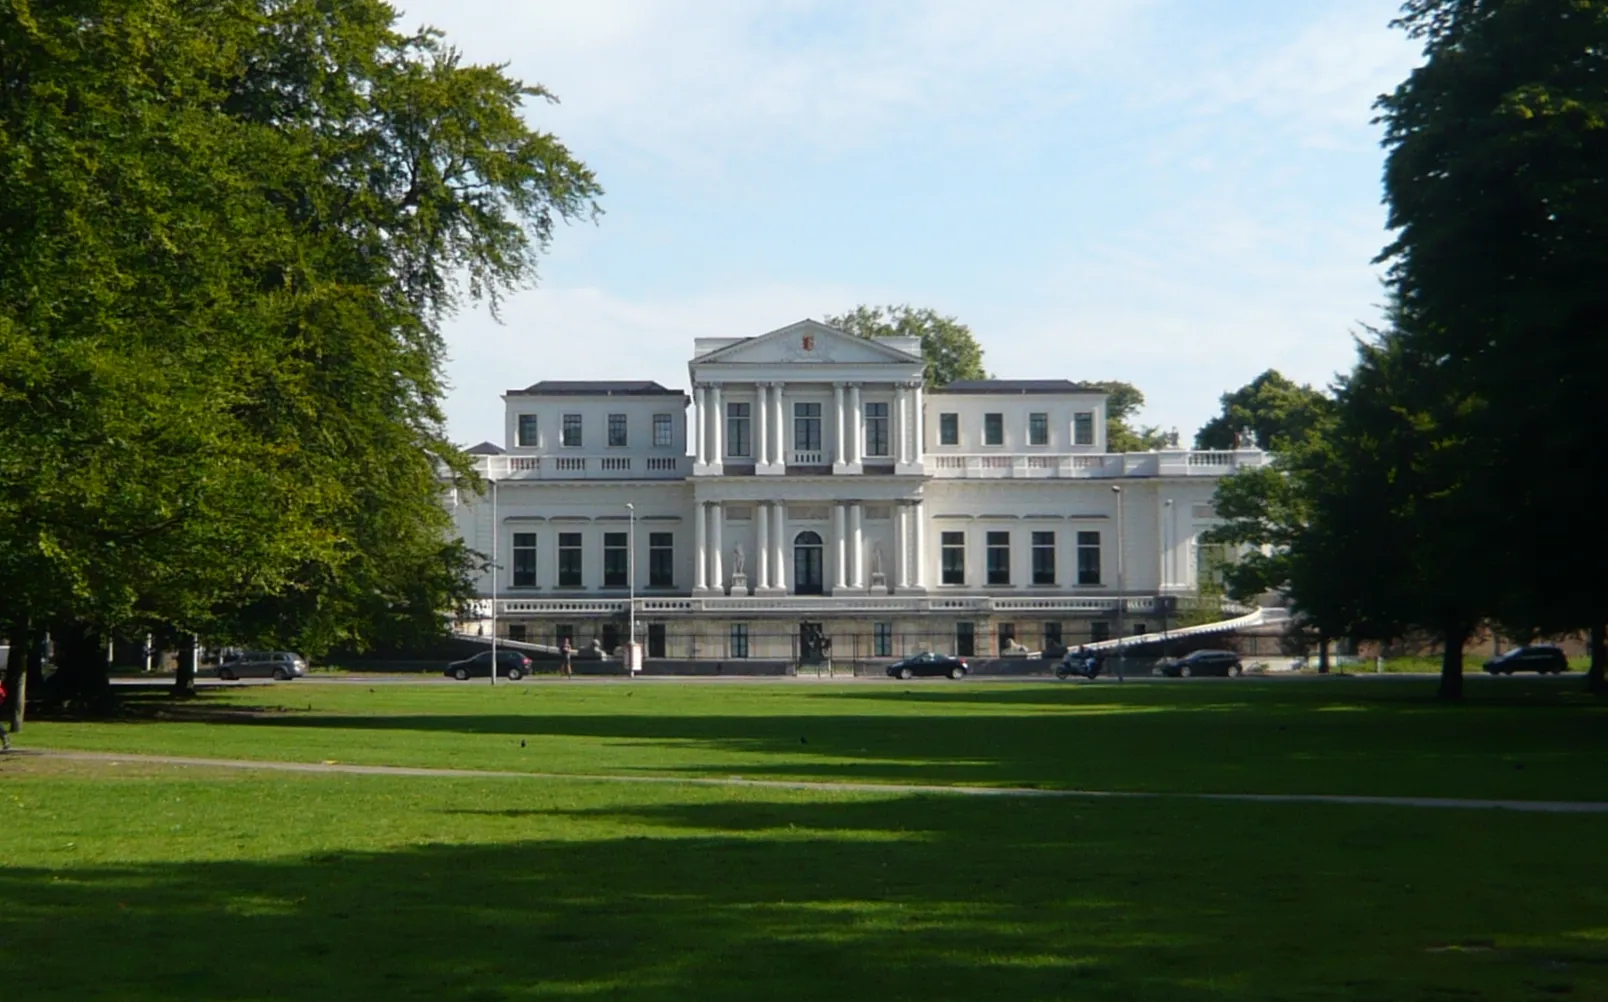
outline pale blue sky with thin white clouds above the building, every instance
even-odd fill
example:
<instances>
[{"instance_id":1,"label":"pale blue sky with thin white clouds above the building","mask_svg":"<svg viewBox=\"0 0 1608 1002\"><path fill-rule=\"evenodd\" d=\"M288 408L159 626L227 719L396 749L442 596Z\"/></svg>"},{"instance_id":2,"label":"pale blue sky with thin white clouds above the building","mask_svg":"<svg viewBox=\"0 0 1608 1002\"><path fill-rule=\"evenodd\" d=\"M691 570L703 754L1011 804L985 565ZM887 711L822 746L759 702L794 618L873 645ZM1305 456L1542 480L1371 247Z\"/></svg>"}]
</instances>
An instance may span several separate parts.
<instances>
[{"instance_id":1,"label":"pale blue sky with thin white clouds above the building","mask_svg":"<svg viewBox=\"0 0 1608 1002\"><path fill-rule=\"evenodd\" d=\"M447 326L449 431L510 388L687 388L695 336L859 302L968 323L1007 378L1127 380L1185 439L1378 320L1394 0L413 0L606 188L503 323Z\"/></svg>"}]
</instances>

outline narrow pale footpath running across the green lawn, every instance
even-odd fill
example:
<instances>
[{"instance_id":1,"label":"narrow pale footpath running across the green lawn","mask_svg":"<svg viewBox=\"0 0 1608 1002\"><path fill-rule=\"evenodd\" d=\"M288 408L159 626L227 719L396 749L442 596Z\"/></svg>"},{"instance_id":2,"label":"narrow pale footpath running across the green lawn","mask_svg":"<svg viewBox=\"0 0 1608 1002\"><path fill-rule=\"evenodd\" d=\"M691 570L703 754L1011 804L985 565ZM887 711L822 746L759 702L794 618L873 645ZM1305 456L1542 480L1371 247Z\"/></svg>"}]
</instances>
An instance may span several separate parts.
<instances>
[{"instance_id":1,"label":"narrow pale footpath running across the green lawn","mask_svg":"<svg viewBox=\"0 0 1608 1002\"><path fill-rule=\"evenodd\" d=\"M1196 799L1265 804L1367 804L1380 807L1431 807L1454 811L1523 811L1531 814L1608 814L1603 801L1495 801L1444 796L1352 796L1330 793L1138 793L1122 790L1037 790L1031 786L946 786L929 783L843 783L833 780L754 780L679 775L593 775L580 772L495 772L478 769L421 769L413 766L352 766L347 762L272 762L256 759L201 759L169 754L116 754L109 751L13 751L79 762L138 762L153 766L201 766L209 769L262 769L270 772L322 772L352 775L415 775L445 778L579 780L587 783L662 783L687 786L749 786L759 790L823 790L830 793L926 793L939 796L1048 796L1106 799Z\"/></svg>"}]
</instances>

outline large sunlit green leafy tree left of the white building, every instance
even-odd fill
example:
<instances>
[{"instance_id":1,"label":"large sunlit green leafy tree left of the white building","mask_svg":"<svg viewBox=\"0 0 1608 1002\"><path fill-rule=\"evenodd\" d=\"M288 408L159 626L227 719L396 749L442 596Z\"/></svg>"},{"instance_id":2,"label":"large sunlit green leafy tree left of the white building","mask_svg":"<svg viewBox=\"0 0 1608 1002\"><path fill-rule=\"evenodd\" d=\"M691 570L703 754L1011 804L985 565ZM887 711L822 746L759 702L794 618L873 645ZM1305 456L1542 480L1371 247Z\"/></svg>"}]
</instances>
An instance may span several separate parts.
<instances>
[{"instance_id":1,"label":"large sunlit green leafy tree left of the white building","mask_svg":"<svg viewBox=\"0 0 1608 1002\"><path fill-rule=\"evenodd\" d=\"M153 626L439 626L441 322L534 278L592 174L378 0L0 14L0 618L66 674ZM460 280L461 278L461 280Z\"/></svg>"}]
</instances>

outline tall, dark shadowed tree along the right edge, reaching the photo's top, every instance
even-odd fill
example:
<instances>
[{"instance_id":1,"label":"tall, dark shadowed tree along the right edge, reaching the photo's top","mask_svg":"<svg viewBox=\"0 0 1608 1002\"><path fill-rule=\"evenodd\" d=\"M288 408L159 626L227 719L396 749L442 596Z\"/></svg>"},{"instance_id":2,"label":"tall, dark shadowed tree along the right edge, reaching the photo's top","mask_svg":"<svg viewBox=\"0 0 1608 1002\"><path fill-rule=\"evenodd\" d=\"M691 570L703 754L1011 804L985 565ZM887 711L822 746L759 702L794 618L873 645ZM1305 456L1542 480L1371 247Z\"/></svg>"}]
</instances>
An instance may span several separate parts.
<instances>
[{"instance_id":1,"label":"tall, dark shadowed tree along the right edge, reaching the photo's top","mask_svg":"<svg viewBox=\"0 0 1608 1002\"><path fill-rule=\"evenodd\" d=\"M1401 26L1425 63L1381 100L1397 230L1381 257L1457 400L1447 463L1478 519L1442 532L1473 550L1458 563L1483 568L1489 614L1590 629L1602 687L1608 579L1584 484L1608 436L1608 2L1410 0Z\"/></svg>"}]
</instances>

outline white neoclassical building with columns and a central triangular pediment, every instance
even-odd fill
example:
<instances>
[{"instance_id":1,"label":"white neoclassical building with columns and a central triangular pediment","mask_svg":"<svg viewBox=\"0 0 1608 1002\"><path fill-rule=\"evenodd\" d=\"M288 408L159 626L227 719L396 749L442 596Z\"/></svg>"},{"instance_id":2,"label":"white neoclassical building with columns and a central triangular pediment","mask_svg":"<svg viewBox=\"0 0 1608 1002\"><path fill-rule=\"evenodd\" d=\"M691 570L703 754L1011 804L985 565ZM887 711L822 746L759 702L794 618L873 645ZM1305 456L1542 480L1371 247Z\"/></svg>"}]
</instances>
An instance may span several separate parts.
<instances>
[{"instance_id":1,"label":"white neoclassical building with columns and a central triangular pediment","mask_svg":"<svg viewBox=\"0 0 1608 1002\"><path fill-rule=\"evenodd\" d=\"M812 320L699 338L688 368L690 397L505 394L503 446L471 450L492 491L450 497L500 635L611 650L634 611L650 659L781 659L1145 632L1196 585L1216 479L1267 462L1108 454L1100 389L925 389L915 339Z\"/></svg>"}]
</instances>

